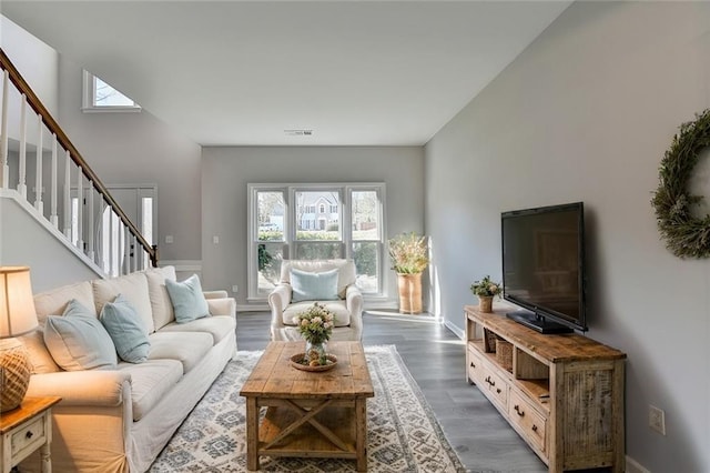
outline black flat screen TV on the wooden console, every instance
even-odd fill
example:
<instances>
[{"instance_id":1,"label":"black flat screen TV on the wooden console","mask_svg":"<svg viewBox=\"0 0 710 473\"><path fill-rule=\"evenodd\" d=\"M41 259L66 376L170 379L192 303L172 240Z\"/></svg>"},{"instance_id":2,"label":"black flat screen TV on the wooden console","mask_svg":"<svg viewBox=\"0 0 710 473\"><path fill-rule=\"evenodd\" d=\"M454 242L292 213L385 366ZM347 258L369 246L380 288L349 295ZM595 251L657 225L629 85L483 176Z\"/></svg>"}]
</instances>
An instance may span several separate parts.
<instances>
[{"instance_id":1,"label":"black flat screen TV on the wooden console","mask_svg":"<svg viewBox=\"0 0 710 473\"><path fill-rule=\"evenodd\" d=\"M586 331L582 202L500 214L508 318L541 333Z\"/></svg>"}]
</instances>

